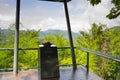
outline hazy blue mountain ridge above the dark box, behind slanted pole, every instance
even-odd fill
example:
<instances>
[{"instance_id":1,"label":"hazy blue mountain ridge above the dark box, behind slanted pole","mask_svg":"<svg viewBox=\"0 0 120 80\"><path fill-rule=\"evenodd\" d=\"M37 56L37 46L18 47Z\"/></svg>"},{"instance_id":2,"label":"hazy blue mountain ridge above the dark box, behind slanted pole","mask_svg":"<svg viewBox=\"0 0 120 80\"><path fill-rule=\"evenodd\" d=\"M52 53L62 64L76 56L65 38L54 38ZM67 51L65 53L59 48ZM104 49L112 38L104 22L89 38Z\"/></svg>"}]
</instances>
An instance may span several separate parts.
<instances>
[{"instance_id":1,"label":"hazy blue mountain ridge above the dark box, behind slanted pole","mask_svg":"<svg viewBox=\"0 0 120 80\"><path fill-rule=\"evenodd\" d=\"M53 35L53 34L61 34L65 39L69 39L68 36L68 31L67 30L46 30L46 31L41 31L39 34L41 38L44 38L46 35ZM72 37L73 39L76 39L78 36L80 36L79 33L72 32Z\"/></svg>"}]
</instances>

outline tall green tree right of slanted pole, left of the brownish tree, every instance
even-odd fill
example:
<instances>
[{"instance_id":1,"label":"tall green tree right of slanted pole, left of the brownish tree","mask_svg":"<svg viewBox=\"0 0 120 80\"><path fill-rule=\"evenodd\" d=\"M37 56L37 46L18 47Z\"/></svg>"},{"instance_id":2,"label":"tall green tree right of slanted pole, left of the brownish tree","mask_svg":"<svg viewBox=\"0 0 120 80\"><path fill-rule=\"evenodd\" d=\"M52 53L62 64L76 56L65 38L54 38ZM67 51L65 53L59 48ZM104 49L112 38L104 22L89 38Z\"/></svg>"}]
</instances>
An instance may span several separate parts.
<instances>
[{"instance_id":1,"label":"tall green tree right of slanted pole, left of the brownish tree","mask_svg":"<svg viewBox=\"0 0 120 80\"><path fill-rule=\"evenodd\" d=\"M89 30L89 32L80 31L80 36L77 39L77 44L80 47L84 47L87 49L95 50L95 51L101 51L102 44L103 44L103 30L105 29L105 25L102 24L92 24L92 28ZM86 56L86 54L83 54ZM83 60L84 61L84 60ZM90 67L91 70L98 71L98 66L101 65L100 61L101 58L96 55L90 55ZM84 61L85 62L85 61ZM83 62L82 62L83 63Z\"/></svg>"}]
</instances>

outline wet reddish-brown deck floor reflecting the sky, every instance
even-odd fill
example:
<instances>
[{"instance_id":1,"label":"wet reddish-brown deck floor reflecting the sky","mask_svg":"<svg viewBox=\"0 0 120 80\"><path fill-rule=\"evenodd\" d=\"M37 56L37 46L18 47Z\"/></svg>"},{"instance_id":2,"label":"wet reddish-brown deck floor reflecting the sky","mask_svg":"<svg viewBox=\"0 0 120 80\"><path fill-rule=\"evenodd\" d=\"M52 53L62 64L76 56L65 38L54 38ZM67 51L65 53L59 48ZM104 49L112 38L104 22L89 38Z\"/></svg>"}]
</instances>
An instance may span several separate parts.
<instances>
[{"instance_id":1,"label":"wet reddish-brown deck floor reflecting the sky","mask_svg":"<svg viewBox=\"0 0 120 80\"><path fill-rule=\"evenodd\" d=\"M14 76L12 72L1 72L0 80L41 80L39 79L37 70L21 71L18 76ZM42 79L43 80L43 79ZM60 78L44 79L44 80L103 80L94 73L86 76L86 70L79 67L76 71L72 68L60 68Z\"/></svg>"}]
</instances>

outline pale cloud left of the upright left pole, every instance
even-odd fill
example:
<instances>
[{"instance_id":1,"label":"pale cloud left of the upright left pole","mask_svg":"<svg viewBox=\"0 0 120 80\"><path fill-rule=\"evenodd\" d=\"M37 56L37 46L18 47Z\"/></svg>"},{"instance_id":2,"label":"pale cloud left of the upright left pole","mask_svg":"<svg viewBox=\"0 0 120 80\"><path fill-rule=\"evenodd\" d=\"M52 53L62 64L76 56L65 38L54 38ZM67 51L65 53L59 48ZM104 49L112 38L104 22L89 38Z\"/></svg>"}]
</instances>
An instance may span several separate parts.
<instances>
[{"instance_id":1,"label":"pale cloud left of the upright left pole","mask_svg":"<svg viewBox=\"0 0 120 80\"><path fill-rule=\"evenodd\" d=\"M8 3L0 2L0 28L8 28L15 22L15 8Z\"/></svg>"}]
</instances>

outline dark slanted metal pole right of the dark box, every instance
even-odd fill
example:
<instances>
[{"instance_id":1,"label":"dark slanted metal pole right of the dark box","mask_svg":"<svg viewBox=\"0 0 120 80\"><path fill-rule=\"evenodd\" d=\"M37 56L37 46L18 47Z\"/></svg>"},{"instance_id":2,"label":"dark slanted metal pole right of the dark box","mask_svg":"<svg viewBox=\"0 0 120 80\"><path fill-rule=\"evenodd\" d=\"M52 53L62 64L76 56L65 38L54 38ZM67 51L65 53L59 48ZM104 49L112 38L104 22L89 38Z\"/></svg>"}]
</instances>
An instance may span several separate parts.
<instances>
[{"instance_id":1,"label":"dark slanted metal pole right of the dark box","mask_svg":"<svg viewBox=\"0 0 120 80\"><path fill-rule=\"evenodd\" d=\"M76 70L76 68L77 68L76 58L75 58L75 52L74 52L74 47L73 47L73 40L72 40L72 33L71 33L71 27L70 27L70 19L69 19L69 13L68 13L67 0L64 0L64 8L65 8L65 14L66 14L66 21L67 21L67 28L68 28L71 54L72 54L73 70Z\"/></svg>"}]
</instances>

